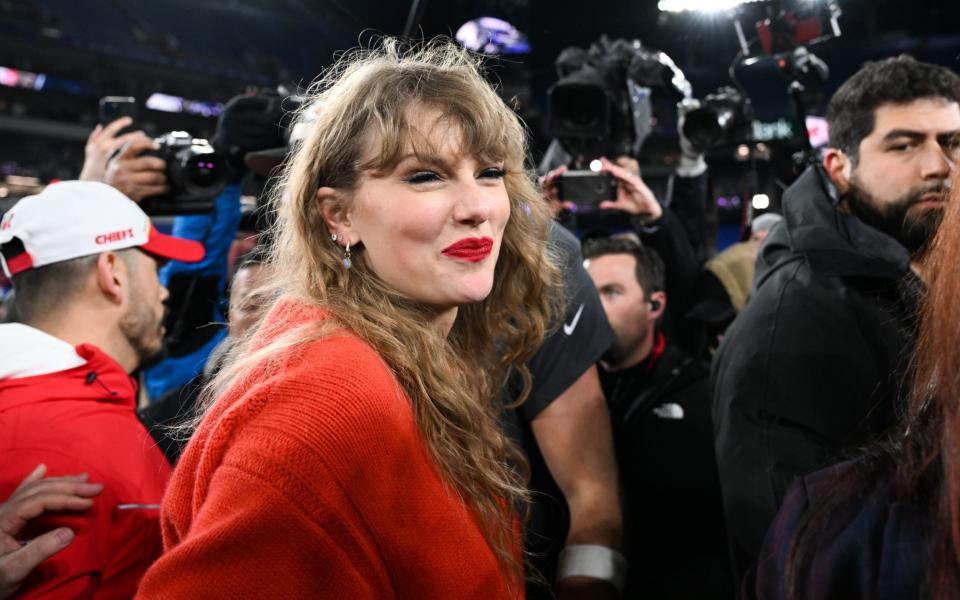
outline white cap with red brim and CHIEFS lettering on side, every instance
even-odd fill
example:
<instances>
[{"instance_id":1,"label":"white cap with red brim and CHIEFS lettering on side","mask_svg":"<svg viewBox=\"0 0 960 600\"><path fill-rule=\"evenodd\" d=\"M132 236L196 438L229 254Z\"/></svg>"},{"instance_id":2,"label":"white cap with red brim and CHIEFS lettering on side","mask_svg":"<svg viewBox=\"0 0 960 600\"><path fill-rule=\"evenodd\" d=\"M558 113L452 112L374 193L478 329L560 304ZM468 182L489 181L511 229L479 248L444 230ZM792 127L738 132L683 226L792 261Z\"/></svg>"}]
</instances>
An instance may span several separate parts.
<instances>
[{"instance_id":1,"label":"white cap with red brim and CHIEFS lettering on side","mask_svg":"<svg viewBox=\"0 0 960 600\"><path fill-rule=\"evenodd\" d=\"M21 199L0 220L0 244L7 277L125 248L183 262L204 254L198 242L158 232L136 202L96 181L61 181Z\"/></svg>"}]
</instances>

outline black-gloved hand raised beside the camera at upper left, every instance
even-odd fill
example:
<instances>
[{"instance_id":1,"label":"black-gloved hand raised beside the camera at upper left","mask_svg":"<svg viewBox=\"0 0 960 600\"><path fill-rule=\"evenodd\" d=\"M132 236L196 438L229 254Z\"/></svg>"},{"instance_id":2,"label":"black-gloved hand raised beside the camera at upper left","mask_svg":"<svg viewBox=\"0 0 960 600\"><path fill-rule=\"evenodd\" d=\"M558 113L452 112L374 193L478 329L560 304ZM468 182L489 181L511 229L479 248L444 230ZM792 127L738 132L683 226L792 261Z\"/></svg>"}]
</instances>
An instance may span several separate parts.
<instances>
[{"instance_id":1,"label":"black-gloved hand raised beside the camera at upper left","mask_svg":"<svg viewBox=\"0 0 960 600\"><path fill-rule=\"evenodd\" d=\"M246 169L243 159L248 152L284 145L280 100L279 96L236 96L223 108L210 145L236 173Z\"/></svg>"}]
</instances>

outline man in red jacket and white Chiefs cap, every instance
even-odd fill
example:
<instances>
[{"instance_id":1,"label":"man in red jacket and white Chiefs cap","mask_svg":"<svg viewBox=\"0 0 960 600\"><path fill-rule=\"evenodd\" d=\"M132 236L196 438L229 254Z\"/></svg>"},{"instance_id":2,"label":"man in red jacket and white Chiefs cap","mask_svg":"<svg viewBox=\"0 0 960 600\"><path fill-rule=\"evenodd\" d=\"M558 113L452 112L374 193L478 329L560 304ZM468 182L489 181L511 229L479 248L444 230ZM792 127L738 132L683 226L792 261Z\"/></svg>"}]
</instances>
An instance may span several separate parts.
<instances>
[{"instance_id":1,"label":"man in red jacket and white Chiefs cap","mask_svg":"<svg viewBox=\"0 0 960 600\"><path fill-rule=\"evenodd\" d=\"M21 533L74 534L24 582L24 597L131 597L159 555L170 466L137 420L130 373L163 348L158 263L202 256L102 183L53 184L0 220L0 262L23 321L0 325L0 498L38 463L103 484L90 509Z\"/></svg>"}]
</instances>

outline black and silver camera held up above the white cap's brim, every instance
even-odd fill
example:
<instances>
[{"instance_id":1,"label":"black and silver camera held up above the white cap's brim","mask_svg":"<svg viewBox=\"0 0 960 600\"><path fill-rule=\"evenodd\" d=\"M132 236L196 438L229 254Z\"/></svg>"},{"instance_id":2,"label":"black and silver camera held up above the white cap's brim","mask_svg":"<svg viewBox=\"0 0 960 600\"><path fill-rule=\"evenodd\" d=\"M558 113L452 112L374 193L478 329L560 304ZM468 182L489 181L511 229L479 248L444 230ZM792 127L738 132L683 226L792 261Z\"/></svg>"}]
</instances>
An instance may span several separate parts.
<instances>
[{"instance_id":1,"label":"black and silver camera held up above the white cap's brim","mask_svg":"<svg viewBox=\"0 0 960 600\"><path fill-rule=\"evenodd\" d=\"M160 148L144 153L167 163L170 191L144 199L140 205L151 215L210 212L213 200L227 182L227 165L207 140L185 131L171 131L154 140Z\"/></svg>"}]
</instances>

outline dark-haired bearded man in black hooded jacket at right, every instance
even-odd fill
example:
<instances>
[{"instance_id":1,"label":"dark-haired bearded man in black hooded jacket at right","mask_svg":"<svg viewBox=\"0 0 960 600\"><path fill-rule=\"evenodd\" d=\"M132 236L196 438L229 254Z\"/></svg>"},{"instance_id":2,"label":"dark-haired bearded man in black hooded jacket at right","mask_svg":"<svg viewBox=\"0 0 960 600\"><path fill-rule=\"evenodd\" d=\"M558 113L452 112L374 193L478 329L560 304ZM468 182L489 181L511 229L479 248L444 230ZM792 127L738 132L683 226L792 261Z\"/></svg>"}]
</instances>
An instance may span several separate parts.
<instances>
[{"instance_id":1,"label":"dark-haired bearded man in black hooded jacket at right","mask_svg":"<svg viewBox=\"0 0 960 600\"><path fill-rule=\"evenodd\" d=\"M751 299L714 362L717 463L739 581L791 481L889 427L913 348L925 247L960 141L960 77L867 63L828 106L830 148L785 192Z\"/></svg>"}]
</instances>

